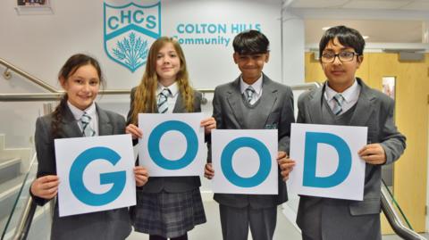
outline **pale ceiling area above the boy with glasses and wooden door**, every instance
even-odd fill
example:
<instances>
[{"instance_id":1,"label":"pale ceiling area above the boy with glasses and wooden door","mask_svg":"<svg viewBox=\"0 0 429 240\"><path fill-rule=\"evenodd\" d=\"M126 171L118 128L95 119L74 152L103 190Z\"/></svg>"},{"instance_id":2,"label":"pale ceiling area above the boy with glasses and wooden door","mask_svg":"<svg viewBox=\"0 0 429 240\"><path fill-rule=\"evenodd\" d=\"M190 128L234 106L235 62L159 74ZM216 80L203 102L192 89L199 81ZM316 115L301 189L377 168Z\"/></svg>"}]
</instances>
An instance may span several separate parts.
<instances>
[{"instance_id":1,"label":"pale ceiling area above the boy with glasses and wooden door","mask_svg":"<svg viewBox=\"0 0 429 240\"><path fill-rule=\"evenodd\" d=\"M346 25L367 43L422 43L429 29L429 0L283 0L306 25L306 44L317 43L324 27Z\"/></svg>"}]
</instances>

